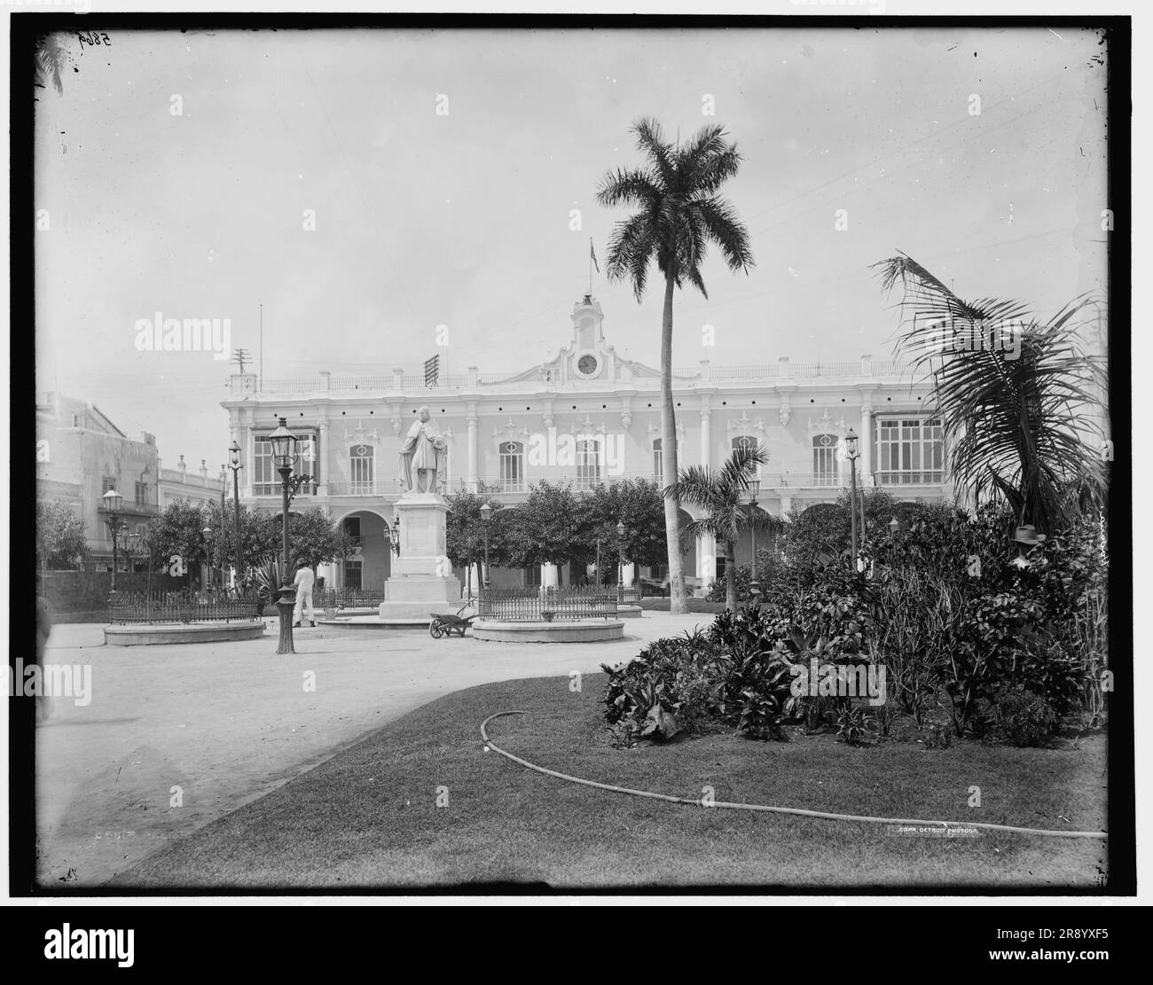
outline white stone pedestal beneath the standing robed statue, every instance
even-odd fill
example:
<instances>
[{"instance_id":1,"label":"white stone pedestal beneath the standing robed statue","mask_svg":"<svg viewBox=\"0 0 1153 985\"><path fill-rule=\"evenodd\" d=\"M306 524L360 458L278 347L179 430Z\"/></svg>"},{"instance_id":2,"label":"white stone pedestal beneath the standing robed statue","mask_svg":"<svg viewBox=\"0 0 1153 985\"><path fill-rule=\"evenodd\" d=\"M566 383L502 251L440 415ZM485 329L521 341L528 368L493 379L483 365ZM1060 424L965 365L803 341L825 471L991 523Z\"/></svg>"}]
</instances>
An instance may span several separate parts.
<instances>
[{"instance_id":1,"label":"white stone pedestal beneath the standing robed statue","mask_svg":"<svg viewBox=\"0 0 1153 985\"><path fill-rule=\"evenodd\" d=\"M445 554L449 505L436 493L409 492L397 500L400 554L384 583L382 620L427 619L434 612L459 608L460 578Z\"/></svg>"}]
</instances>

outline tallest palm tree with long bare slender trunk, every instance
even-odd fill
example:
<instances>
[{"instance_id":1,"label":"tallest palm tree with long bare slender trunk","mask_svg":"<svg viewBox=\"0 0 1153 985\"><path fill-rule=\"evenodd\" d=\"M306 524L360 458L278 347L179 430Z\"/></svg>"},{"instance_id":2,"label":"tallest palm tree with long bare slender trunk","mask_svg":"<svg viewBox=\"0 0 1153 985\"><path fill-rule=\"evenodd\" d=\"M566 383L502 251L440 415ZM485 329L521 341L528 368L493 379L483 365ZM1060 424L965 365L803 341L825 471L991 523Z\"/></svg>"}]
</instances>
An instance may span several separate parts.
<instances>
[{"instance_id":1,"label":"tallest palm tree with long bare slender trunk","mask_svg":"<svg viewBox=\"0 0 1153 985\"><path fill-rule=\"evenodd\" d=\"M664 526L669 548L670 608L688 612L680 569L680 503L669 490L677 483L677 426L672 403L672 291L688 281L708 297L701 262L709 242L721 248L732 271L753 265L748 230L717 190L740 166L736 144L724 128L703 127L684 146L666 143L655 120L638 120L632 131L647 161L641 168L618 168L601 181L596 200L604 206L635 205L639 212L618 222L609 238L609 280L630 280L640 302L648 270L656 260L664 276L661 320L662 479L665 485Z\"/></svg>"}]
</instances>

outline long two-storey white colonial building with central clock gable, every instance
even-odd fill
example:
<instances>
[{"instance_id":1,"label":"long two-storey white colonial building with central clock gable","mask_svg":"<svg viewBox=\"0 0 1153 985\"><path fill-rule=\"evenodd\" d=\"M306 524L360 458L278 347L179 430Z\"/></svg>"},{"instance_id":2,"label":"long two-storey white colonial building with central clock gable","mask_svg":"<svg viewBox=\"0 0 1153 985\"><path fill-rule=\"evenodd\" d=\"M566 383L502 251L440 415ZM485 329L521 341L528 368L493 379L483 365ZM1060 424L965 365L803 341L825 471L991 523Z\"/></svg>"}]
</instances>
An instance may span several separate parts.
<instances>
[{"instance_id":1,"label":"long two-storey white colonial building with central clock gable","mask_svg":"<svg viewBox=\"0 0 1153 985\"><path fill-rule=\"evenodd\" d=\"M428 407L449 439L446 492L522 500L534 483L571 482L575 488L621 478L661 480L660 372L624 358L604 335L604 316L586 295L573 305L568 342L551 362L514 376L449 374L425 386L423 374L333 376L265 380L231 378L223 401L241 445L241 500L280 509L279 477L267 434L279 417L302 439L301 471L314 482L294 506L321 506L359 538L357 554L331 574L337 584L383 586L391 570L393 502L400 497L401 438ZM558 340L559 341L559 340ZM921 412L928 399L911 385L909 368L861 356L839 363L714 366L707 361L673 371L679 464L716 467L743 441L769 452L760 506L773 514L832 502L849 485L838 442L861 435L857 467L865 485L891 488L903 500L951 495L937 418ZM749 545L738 550L747 560ZM714 544L698 543L685 573L708 584L716 576ZM533 573L504 573L508 583Z\"/></svg>"}]
</instances>

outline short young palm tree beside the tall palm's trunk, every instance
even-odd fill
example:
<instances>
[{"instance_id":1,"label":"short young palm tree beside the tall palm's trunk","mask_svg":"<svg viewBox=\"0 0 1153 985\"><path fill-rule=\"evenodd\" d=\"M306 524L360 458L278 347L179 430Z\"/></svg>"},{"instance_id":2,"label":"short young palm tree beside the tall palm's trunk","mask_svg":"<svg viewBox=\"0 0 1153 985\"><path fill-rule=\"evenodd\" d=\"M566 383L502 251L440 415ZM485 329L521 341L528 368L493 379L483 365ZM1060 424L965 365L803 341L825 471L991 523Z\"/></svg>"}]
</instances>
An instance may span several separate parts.
<instances>
[{"instance_id":1,"label":"short young palm tree beside the tall palm's trunk","mask_svg":"<svg viewBox=\"0 0 1153 985\"><path fill-rule=\"evenodd\" d=\"M777 525L761 510L748 512L745 499L756 467L766 462L768 452L760 445L733 448L732 455L716 471L708 465L689 465L681 470L673 484L677 498L704 512L701 520L685 524L684 538L715 537L723 546L728 563L724 566L724 601L737 608L737 541L743 530L756 528L770 531Z\"/></svg>"}]
</instances>

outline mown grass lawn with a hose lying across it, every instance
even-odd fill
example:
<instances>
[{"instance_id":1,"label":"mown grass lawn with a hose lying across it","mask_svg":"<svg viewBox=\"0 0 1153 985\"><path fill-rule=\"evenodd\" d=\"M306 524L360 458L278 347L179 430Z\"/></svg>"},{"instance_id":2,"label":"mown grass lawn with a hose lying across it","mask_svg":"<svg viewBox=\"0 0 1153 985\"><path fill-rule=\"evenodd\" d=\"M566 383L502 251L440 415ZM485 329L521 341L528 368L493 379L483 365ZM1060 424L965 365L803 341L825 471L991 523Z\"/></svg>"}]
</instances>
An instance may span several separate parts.
<instances>
[{"instance_id":1,"label":"mown grass lawn with a hose lying across it","mask_svg":"<svg viewBox=\"0 0 1153 985\"><path fill-rule=\"evenodd\" d=\"M686 797L843 813L1094 831L1105 826L1105 736L1079 748L914 742L853 749L832 736L761 743L731 734L613 749L605 677L510 681L405 715L110 884L130 887L1080 887L1107 843L985 833L941 839L884 825L677 805L544 776L483 751L492 741L560 772ZM979 786L980 808L970 808ZM447 788L447 806L437 806ZM442 800L444 800L442 789ZM186 801L196 796L187 790ZM1064 819L1062 819L1062 817ZM1067 819L1067 820L1065 820Z\"/></svg>"}]
</instances>

